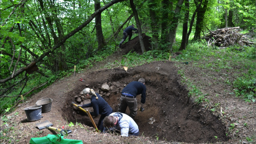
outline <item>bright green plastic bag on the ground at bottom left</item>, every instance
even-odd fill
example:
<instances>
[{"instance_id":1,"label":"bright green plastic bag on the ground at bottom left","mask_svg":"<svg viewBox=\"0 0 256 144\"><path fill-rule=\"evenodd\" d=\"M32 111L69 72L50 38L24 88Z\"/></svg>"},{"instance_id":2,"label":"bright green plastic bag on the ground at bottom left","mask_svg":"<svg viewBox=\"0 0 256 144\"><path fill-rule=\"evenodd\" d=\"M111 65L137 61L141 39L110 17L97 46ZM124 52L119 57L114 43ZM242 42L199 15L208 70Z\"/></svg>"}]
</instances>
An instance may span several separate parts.
<instances>
[{"instance_id":1,"label":"bright green plastic bag on the ground at bottom left","mask_svg":"<svg viewBox=\"0 0 256 144\"><path fill-rule=\"evenodd\" d=\"M30 139L30 144L83 144L82 140L63 139L60 135L47 135Z\"/></svg>"}]
</instances>

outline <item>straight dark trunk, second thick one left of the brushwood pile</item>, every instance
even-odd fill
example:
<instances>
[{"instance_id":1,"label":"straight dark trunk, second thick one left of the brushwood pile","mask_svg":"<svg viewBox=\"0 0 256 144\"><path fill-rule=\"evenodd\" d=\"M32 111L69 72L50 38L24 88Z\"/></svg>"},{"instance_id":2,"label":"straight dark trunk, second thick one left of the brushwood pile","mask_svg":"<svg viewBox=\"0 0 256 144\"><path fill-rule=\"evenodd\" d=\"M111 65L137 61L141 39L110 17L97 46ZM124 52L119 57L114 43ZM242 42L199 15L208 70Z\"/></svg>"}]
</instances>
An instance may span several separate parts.
<instances>
[{"instance_id":1,"label":"straight dark trunk, second thick one left of the brushwood pile","mask_svg":"<svg viewBox=\"0 0 256 144\"><path fill-rule=\"evenodd\" d=\"M186 43L187 43L187 28L188 28L188 18L189 18L189 0L185 0L185 15L184 15L184 23L183 23L183 30L182 30L182 40L181 40L181 46L180 51L186 49Z\"/></svg>"}]
</instances>

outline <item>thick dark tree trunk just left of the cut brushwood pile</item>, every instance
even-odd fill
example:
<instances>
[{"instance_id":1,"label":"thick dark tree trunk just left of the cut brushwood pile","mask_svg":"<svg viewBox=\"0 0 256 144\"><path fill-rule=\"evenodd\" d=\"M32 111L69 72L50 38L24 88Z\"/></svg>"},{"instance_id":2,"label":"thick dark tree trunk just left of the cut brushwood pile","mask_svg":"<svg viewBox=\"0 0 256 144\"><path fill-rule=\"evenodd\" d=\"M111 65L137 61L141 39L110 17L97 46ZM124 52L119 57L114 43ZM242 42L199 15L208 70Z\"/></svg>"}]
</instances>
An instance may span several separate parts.
<instances>
[{"instance_id":1,"label":"thick dark tree trunk just left of the cut brushwood pile","mask_svg":"<svg viewBox=\"0 0 256 144\"><path fill-rule=\"evenodd\" d=\"M203 3L203 8L198 10L197 13L197 22L196 22L196 29L195 29L195 35L193 40L199 40L201 38L201 31L203 30L203 18L205 11L207 9L208 0L205 0Z\"/></svg>"}]
</instances>

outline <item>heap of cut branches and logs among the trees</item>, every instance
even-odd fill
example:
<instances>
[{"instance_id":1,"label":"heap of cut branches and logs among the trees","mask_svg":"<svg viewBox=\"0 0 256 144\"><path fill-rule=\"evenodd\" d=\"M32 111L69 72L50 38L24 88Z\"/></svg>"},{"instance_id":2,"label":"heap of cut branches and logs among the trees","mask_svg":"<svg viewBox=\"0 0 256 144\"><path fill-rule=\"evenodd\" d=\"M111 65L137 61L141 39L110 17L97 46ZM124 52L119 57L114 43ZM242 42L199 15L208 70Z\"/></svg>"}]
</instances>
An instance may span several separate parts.
<instances>
[{"instance_id":1,"label":"heap of cut branches and logs among the trees","mask_svg":"<svg viewBox=\"0 0 256 144\"><path fill-rule=\"evenodd\" d=\"M235 44L250 46L255 44L252 42L251 36L239 33L239 31L241 31L240 27L225 27L215 31L209 30L209 33L204 36L204 39L208 42L208 46L216 45L226 47Z\"/></svg>"}]
</instances>

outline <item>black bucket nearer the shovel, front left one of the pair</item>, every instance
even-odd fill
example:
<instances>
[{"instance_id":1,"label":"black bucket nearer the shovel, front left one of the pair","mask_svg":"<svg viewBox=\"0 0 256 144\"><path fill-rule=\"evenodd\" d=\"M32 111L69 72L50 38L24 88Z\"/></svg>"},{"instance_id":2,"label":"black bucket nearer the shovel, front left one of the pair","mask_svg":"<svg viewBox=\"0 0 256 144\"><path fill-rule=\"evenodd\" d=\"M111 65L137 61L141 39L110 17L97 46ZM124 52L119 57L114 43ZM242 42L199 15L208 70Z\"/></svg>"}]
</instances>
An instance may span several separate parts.
<instances>
[{"instance_id":1,"label":"black bucket nearer the shovel, front left one of the pair","mask_svg":"<svg viewBox=\"0 0 256 144\"><path fill-rule=\"evenodd\" d=\"M29 121L36 121L41 119L42 117L42 106L41 105L33 105L25 108L25 113Z\"/></svg>"}]
</instances>

